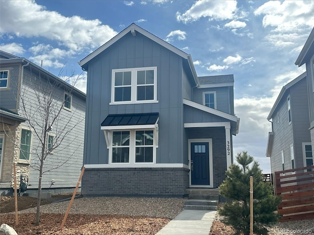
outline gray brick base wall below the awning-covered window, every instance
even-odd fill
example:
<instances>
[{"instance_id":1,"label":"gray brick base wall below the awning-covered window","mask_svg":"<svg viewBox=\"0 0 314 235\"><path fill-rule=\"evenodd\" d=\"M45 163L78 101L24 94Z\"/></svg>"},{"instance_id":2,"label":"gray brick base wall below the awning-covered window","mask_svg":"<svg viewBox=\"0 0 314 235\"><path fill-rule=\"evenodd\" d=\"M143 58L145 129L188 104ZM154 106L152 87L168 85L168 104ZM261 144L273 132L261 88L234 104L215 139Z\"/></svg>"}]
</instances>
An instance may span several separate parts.
<instances>
[{"instance_id":1,"label":"gray brick base wall below the awning-covered window","mask_svg":"<svg viewBox=\"0 0 314 235\"><path fill-rule=\"evenodd\" d=\"M175 196L189 187L186 168L86 168L82 178L84 196Z\"/></svg>"}]
</instances>

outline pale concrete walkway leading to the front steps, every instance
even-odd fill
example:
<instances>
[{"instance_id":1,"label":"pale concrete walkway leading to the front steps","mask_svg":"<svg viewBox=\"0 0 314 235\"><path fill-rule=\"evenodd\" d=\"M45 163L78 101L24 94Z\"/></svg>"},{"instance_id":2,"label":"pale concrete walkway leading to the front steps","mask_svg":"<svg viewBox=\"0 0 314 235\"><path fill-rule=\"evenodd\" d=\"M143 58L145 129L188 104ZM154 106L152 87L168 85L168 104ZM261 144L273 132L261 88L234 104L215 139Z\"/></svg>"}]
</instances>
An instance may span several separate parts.
<instances>
[{"instance_id":1,"label":"pale concrete walkway leading to the front steps","mask_svg":"<svg viewBox=\"0 0 314 235\"><path fill-rule=\"evenodd\" d=\"M216 212L184 210L156 235L209 235Z\"/></svg>"}]
</instances>

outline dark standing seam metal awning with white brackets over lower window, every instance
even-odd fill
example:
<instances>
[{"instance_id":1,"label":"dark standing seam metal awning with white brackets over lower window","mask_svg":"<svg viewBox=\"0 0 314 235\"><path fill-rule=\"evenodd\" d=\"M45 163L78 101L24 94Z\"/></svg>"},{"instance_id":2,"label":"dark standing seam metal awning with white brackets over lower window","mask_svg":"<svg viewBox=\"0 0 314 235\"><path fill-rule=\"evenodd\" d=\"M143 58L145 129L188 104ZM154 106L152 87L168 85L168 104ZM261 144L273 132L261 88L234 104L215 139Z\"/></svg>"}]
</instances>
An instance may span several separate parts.
<instances>
[{"instance_id":1,"label":"dark standing seam metal awning with white brackets over lower window","mask_svg":"<svg viewBox=\"0 0 314 235\"><path fill-rule=\"evenodd\" d=\"M158 147L158 120L159 113L108 115L101 124L107 148L111 146L112 131L131 129L153 129L154 144Z\"/></svg>"}]
</instances>

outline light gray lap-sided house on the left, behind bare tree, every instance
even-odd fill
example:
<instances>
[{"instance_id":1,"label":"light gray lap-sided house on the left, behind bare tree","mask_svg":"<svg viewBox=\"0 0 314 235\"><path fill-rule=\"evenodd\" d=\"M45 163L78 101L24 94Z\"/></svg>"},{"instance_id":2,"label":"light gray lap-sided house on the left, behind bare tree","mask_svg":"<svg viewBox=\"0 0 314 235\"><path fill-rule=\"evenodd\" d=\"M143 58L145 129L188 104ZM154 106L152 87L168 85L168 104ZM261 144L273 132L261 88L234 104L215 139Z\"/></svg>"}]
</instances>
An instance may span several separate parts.
<instances>
[{"instance_id":1,"label":"light gray lap-sided house on the left, behind bare tree","mask_svg":"<svg viewBox=\"0 0 314 235\"><path fill-rule=\"evenodd\" d=\"M36 117L36 94L42 94L40 88L48 87L48 81L58 84L53 98L60 104L61 113L47 137L47 149L57 141L55 135L61 125L67 126L64 132L69 134L46 159L44 170L63 165L43 175L42 188L66 192L77 184L83 160L86 95L29 60L0 51L0 194L12 193L14 163L18 187L23 175L28 179L27 192L38 188L39 172L31 166L38 165L34 153L39 141L24 117L21 97L26 101L28 116Z\"/></svg>"}]
</instances>

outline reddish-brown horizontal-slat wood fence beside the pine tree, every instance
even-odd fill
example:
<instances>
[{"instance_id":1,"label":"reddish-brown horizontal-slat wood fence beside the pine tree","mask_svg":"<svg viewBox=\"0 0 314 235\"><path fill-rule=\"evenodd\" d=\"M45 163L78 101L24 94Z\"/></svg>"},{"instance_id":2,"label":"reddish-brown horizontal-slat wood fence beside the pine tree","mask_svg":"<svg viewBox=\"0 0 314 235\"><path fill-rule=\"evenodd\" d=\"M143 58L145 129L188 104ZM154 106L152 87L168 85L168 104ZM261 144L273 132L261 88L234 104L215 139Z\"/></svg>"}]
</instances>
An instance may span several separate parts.
<instances>
[{"instance_id":1,"label":"reddish-brown horizontal-slat wood fence beside the pine tree","mask_svg":"<svg viewBox=\"0 0 314 235\"><path fill-rule=\"evenodd\" d=\"M314 166L275 172L275 193L281 222L314 218Z\"/></svg>"}]
</instances>

